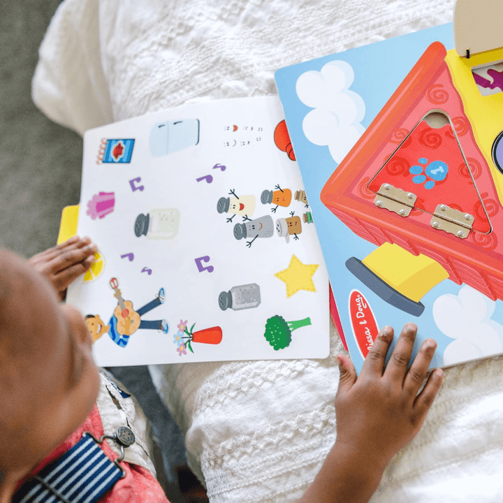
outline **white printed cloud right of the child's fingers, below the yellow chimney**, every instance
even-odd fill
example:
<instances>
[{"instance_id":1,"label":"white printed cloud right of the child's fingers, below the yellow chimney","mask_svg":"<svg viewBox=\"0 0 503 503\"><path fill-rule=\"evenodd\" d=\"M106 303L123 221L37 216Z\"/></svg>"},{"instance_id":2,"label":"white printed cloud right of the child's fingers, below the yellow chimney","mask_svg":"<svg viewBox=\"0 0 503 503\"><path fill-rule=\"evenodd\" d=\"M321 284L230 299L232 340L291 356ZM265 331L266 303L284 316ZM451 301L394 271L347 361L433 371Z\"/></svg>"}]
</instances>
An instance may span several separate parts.
<instances>
[{"instance_id":1,"label":"white printed cloud right of the child's fingers, below the yellow chimney","mask_svg":"<svg viewBox=\"0 0 503 503\"><path fill-rule=\"evenodd\" d=\"M444 365L503 353L503 326L493 319L496 302L470 286L457 296L447 293L433 304L439 330L454 339L444 351Z\"/></svg>"}]
</instances>

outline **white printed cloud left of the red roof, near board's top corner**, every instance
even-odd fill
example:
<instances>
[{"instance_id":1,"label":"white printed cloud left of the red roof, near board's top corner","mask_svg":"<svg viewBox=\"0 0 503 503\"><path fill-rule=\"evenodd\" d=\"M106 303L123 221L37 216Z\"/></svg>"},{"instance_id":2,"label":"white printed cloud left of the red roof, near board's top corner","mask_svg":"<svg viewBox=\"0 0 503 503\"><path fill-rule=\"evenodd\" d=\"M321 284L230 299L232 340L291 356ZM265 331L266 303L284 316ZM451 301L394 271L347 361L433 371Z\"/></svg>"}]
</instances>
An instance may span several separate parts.
<instances>
[{"instance_id":1,"label":"white printed cloud left of the red roof, near board's top corner","mask_svg":"<svg viewBox=\"0 0 503 503\"><path fill-rule=\"evenodd\" d=\"M300 101L313 108L302 122L306 138L314 145L327 145L334 161L340 163L365 128L365 103L350 91L354 72L346 61L330 61L321 71L307 71L297 79Z\"/></svg>"}]
</instances>

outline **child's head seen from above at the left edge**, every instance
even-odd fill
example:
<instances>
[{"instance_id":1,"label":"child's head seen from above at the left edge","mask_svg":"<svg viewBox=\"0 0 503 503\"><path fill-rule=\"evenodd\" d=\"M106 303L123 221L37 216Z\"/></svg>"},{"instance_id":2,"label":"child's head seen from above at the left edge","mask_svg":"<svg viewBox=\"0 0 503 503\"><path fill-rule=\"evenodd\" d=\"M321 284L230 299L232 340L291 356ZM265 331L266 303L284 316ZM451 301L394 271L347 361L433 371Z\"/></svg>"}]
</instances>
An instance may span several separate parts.
<instances>
[{"instance_id":1,"label":"child's head seen from above at the left edge","mask_svg":"<svg viewBox=\"0 0 503 503\"><path fill-rule=\"evenodd\" d=\"M0 249L0 493L85 421L98 389L83 316Z\"/></svg>"}]
</instances>

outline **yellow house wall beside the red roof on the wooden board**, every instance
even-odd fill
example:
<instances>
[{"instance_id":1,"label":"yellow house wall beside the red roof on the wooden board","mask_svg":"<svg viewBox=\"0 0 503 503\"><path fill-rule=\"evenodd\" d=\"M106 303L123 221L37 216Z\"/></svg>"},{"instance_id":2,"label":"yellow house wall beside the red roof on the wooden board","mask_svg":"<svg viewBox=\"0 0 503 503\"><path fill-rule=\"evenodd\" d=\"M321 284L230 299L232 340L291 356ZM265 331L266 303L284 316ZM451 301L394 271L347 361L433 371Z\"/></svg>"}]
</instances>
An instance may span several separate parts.
<instances>
[{"instance_id":1,"label":"yellow house wall beside the red roof on the wooden board","mask_svg":"<svg viewBox=\"0 0 503 503\"><path fill-rule=\"evenodd\" d=\"M503 48L474 54L469 59L459 57L454 49L447 51L446 63L451 71L454 87L458 89L465 113L472 124L477 145L486 158L495 182L498 198L503 204L503 175L493 162L491 150L503 130L503 92L482 96L476 87L472 68L503 60ZM454 117L451 117L451 120ZM462 139L460 140L462 143Z\"/></svg>"}]
</instances>

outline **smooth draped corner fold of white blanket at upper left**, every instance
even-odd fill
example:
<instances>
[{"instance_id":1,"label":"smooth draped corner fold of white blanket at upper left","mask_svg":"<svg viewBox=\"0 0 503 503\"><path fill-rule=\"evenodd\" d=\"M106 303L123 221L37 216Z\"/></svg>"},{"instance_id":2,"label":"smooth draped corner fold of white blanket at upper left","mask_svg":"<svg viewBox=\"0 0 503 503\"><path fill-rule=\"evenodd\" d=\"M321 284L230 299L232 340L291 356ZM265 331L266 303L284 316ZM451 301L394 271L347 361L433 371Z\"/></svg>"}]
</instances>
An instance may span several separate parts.
<instances>
[{"instance_id":1,"label":"smooth draped corner fold of white blanket at upper left","mask_svg":"<svg viewBox=\"0 0 503 503\"><path fill-rule=\"evenodd\" d=\"M45 115L80 134L113 121L97 9L97 0L61 3L38 50L31 87Z\"/></svg>"}]
</instances>

